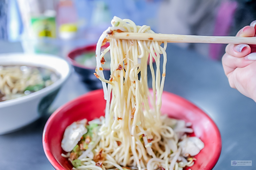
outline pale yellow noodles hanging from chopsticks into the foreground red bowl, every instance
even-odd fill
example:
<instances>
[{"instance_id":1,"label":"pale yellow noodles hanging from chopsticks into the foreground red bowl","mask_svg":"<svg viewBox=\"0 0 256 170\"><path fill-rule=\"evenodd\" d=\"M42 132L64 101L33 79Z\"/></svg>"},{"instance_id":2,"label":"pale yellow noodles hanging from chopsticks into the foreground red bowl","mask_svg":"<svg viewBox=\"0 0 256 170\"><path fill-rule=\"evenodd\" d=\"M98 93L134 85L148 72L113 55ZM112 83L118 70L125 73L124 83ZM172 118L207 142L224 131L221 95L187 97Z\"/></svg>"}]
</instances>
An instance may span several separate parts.
<instances>
[{"instance_id":1,"label":"pale yellow noodles hanging from chopsticks into the foreground red bowl","mask_svg":"<svg viewBox=\"0 0 256 170\"><path fill-rule=\"evenodd\" d=\"M102 81L104 98L107 101L105 119L101 119L101 125L97 132L100 140L96 140L93 148L88 147L89 149L82 151L83 153L78 159L87 159L88 152L93 151L94 147L95 156L101 154L105 156L102 161L92 161L92 164L82 161L81 166L76 168L99 169L100 167L101 169L118 168L123 170L128 166L139 170L153 170L159 167L167 170L182 169L188 161L181 154L183 148L182 145L178 146L178 140L187 139L188 137L184 133L193 132L193 129L188 128L184 123L184 126L179 127L176 132L172 127L178 123L183 124L183 122L162 116L160 112L166 74L165 49L167 42L164 42L164 47L162 47L160 46L162 42L158 41L109 38L110 46L106 49L110 50L111 77L109 80L105 80L100 67L106 50L100 54L100 46L107 35L111 37L111 34L117 30L154 33L150 27L136 26L129 19L122 20L114 17L111 24L113 27L103 32L96 49L95 75ZM160 55L163 56L162 75L160 73ZM147 84L148 58L153 80L153 96L151 96ZM153 59L156 62L156 74L153 69ZM140 78L138 77L139 73ZM108 87L106 87L106 83L109 83ZM110 101L111 93L112 100ZM182 161L182 164L178 164L178 159L186 162Z\"/></svg>"}]
</instances>

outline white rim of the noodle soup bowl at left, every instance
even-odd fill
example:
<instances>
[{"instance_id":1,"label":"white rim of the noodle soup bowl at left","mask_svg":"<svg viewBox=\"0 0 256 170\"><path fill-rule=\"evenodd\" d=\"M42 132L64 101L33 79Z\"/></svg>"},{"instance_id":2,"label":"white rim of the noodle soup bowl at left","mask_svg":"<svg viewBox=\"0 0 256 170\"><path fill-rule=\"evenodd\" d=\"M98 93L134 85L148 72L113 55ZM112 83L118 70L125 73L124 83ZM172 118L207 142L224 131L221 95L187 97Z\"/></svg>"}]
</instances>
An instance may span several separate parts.
<instances>
[{"instance_id":1,"label":"white rim of the noodle soup bowl at left","mask_svg":"<svg viewBox=\"0 0 256 170\"><path fill-rule=\"evenodd\" d=\"M54 70L55 72L59 73L60 74L60 79L58 79L56 82L54 82L53 84L41 89L41 90L38 90L38 91L35 91L34 93L31 93L31 94L28 94L26 96L22 96L22 97L18 97L18 98L15 98L15 99L11 99L11 100L6 100L6 101L1 101L0 102L0 108L4 108L4 107L8 107L8 106L12 106L12 105L15 105L15 104L20 104L20 103L24 103L24 102L27 102L27 101L30 101L30 100L33 100L39 96L44 96L45 94L49 94L50 92L58 89L69 77L69 75L71 74L71 65L64 59L58 57L58 56L55 56L55 55L49 55L49 54L26 54L26 53L2 53L0 54L0 64L1 64L1 58L7 58L10 59L10 58L17 58L17 57L23 57L24 58L31 58L31 57L38 57L38 59L54 59L54 60L59 60L59 61L62 61L63 63L63 67L66 67L68 69L67 73L66 74L63 74L59 71L57 71L54 67L50 67L50 66L47 66L47 65L44 65L44 64L40 64L40 63L37 63L35 64L34 63L34 66L36 67L42 67L42 68L49 68L49 69L52 69ZM12 61L11 61L12 62ZM14 61L13 64L14 65L23 65L23 63L25 63L25 61L21 61L20 64L17 62L17 61ZM2 64L1 64L2 66ZM3 66L8 66L8 65L3 65ZM33 66L33 63L29 63L27 64L27 66Z\"/></svg>"}]
</instances>

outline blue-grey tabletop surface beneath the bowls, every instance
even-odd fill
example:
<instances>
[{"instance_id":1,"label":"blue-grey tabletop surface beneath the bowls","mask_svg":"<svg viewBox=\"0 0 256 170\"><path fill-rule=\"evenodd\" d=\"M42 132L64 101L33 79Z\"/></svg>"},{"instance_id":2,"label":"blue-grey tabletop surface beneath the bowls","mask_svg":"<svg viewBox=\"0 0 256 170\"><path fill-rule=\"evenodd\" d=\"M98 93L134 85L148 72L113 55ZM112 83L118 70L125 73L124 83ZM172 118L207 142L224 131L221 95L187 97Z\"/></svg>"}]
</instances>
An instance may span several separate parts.
<instances>
[{"instance_id":1,"label":"blue-grey tabletop surface beneath the bowls","mask_svg":"<svg viewBox=\"0 0 256 170\"><path fill-rule=\"evenodd\" d=\"M0 42L0 45L0 53L22 51L19 43ZM164 90L195 103L220 130L222 151L214 170L256 169L256 103L229 86L221 62L173 44L168 44L166 52ZM88 91L73 72L51 109ZM0 136L0 169L54 169L42 147L42 131L48 117L45 115L16 132ZM231 160L251 160L252 166L231 166Z\"/></svg>"}]
</instances>

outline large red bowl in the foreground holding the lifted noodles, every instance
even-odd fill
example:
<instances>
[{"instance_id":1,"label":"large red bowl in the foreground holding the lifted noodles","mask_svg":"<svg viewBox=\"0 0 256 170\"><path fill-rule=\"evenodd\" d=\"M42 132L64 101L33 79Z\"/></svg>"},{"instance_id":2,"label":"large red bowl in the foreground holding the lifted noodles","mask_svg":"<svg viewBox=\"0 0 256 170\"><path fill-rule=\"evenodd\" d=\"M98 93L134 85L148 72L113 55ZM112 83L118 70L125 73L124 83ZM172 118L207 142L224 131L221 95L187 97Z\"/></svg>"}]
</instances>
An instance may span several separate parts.
<instances>
[{"instance_id":1,"label":"large red bowl in the foreground holding the lifted noodles","mask_svg":"<svg viewBox=\"0 0 256 170\"><path fill-rule=\"evenodd\" d=\"M72 169L70 162L61 156L61 140L66 127L74 121L84 118L90 121L104 115L105 104L103 90L95 90L68 102L50 116L43 132L43 147L52 166L58 170ZM191 122L194 129L191 136L199 137L205 144L195 156L195 164L189 168L212 169L220 156L221 136L211 118L186 99L166 91L163 92L161 111L169 117Z\"/></svg>"}]
</instances>

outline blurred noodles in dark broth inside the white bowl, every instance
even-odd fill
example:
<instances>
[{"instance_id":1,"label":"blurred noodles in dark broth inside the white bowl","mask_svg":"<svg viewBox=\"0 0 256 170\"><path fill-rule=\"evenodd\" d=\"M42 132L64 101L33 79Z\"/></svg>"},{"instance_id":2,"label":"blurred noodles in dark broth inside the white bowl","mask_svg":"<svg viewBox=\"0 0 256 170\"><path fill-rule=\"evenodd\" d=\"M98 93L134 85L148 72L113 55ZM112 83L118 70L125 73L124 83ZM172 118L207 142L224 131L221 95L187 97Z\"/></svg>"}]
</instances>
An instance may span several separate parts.
<instances>
[{"instance_id":1,"label":"blurred noodles in dark broth inside the white bowl","mask_svg":"<svg viewBox=\"0 0 256 170\"><path fill-rule=\"evenodd\" d=\"M59 76L46 68L0 66L0 102L38 91L57 79Z\"/></svg>"}]
</instances>

